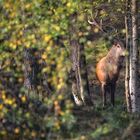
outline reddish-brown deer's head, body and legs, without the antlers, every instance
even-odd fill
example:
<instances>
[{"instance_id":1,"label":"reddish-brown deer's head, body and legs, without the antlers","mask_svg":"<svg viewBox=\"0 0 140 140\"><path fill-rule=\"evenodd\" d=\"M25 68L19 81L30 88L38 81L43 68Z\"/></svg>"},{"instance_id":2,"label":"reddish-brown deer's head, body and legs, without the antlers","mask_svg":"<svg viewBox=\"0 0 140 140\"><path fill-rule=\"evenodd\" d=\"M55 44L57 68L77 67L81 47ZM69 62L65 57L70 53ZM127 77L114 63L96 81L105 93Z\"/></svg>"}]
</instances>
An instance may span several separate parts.
<instances>
[{"instance_id":1,"label":"reddish-brown deer's head, body and legs, without the antlers","mask_svg":"<svg viewBox=\"0 0 140 140\"><path fill-rule=\"evenodd\" d=\"M106 105L106 93L111 96L111 104L114 106L116 82L125 56L125 48L122 42L115 41L108 54L103 57L96 66L96 75L101 84L103 107Z\"/></svg>"}]
</instances>

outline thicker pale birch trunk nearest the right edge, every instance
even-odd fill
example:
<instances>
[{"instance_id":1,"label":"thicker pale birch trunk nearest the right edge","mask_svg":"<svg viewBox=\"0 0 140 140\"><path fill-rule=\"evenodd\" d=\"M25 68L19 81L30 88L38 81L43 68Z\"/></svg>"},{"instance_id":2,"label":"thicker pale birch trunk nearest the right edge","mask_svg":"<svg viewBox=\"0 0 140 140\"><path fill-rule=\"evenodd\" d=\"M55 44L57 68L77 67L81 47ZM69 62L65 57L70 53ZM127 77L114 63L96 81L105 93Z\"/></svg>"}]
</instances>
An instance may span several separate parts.
<instances>
[{"instance_id":1,"label":"thicker pale birch trunk nearest the right edge","mask_svg":"<svg viewBox=\"0 0 140 140\"><path fill-rule=\"evenodd\" d=\"M130 97L132 112L140 112L140 93L138 92L138 36L137 0L132 0L132 47L130 48Z\"/></svg>"}]
</instances>

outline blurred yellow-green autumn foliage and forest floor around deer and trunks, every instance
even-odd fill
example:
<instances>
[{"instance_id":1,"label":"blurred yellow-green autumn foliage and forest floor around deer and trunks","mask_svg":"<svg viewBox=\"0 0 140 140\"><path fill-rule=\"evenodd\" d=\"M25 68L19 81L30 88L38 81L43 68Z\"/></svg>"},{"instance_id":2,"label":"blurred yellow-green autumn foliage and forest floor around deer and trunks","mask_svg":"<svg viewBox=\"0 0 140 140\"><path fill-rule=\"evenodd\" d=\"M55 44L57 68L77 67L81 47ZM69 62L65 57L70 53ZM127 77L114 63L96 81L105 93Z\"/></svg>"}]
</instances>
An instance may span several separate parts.
<instances>
[{"instance_id":1,"label":"blurred yellow-green autumn foliage and forest floor around deer and trunks","mask_svg":"<svg viewBox=\"0 0 140 140\"><path fill-rule=\"evenodd\" d=\"M125 0L0 0L0 139L140 139L139 114L126 111L124 68L116 107L102 109L95 66L111 43L88 23L96 11L110 38L125 40ZM72 40L84 46L94 105L74 104Z\"/></svg>"}]
</instances>

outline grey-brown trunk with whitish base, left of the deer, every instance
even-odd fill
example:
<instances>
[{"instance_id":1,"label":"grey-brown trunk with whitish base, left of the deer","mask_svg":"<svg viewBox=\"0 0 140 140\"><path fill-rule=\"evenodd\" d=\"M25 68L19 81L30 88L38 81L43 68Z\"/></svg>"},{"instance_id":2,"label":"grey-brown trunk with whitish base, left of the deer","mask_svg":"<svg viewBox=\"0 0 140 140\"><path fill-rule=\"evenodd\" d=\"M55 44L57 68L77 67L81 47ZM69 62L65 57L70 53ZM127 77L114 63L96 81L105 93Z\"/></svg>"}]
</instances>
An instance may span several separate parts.
<instances>
[{"instance_id":1,"label":"grey-brown trunk with whitish base, left of the deer","mask_svg":"<svg viewBox=\"0 0 140 140\"><path fill-rule=\"evenodd\" d=\"M77 105L86 104L85 98L90 95L88 85L88 75L86 69L86 59L84 46L79 45L77 40L71 40L71 60L72 60L72 94Z\"/></svg>"}]
</instances>

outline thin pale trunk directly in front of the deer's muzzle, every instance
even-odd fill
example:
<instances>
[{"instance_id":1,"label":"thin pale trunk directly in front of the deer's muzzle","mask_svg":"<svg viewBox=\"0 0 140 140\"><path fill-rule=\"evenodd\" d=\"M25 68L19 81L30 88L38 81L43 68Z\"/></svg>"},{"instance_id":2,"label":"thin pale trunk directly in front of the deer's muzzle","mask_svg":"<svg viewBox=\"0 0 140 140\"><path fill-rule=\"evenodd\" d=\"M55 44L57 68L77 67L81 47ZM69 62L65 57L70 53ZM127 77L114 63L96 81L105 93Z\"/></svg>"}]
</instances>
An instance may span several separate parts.
<instances>
[{"instance_id":1,"label":"thin pale trunk directly in front of the deer's muzzle","mask_svg":"<svg viewBox=\"0 0 140 140\"><path fill-rule=\"evenodd\" d=\"M125 30L126 30L126 50L130 54L131 46L131 0L126 0L126 16L125 16ZM130 100L130 91L129 91L129 55L126 56L126 70L125 70L125 96L127 111L131 112L131 100Z\"/></svg>"}]
</instances>

